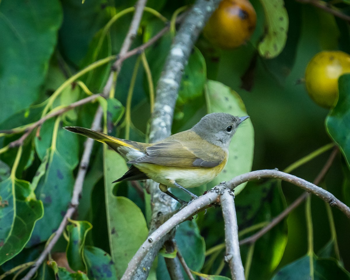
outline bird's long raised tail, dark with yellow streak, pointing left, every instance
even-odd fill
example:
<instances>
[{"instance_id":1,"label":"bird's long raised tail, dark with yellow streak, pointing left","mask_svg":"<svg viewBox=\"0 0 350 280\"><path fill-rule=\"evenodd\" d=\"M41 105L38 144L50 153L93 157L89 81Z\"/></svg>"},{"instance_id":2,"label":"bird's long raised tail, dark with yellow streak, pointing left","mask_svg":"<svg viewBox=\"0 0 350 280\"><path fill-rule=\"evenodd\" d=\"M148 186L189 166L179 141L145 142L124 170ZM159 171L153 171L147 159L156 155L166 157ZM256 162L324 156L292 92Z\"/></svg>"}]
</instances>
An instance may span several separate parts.
<instances>
[{"instance_id":1,"label":"bird's long raised tail, dark with yellow streak, pointing left","mask_svg":"<svg viewBox=\"0 0 350 280\"><path fill-rule=\"evenodd\" d=\"M91 130L84 127L66 126L64 127L64 129L80 135L84 135L86 137L92 138L99 142L106 143L108 146L110 146L114 151L118 153L121 153L121 149L118 149L121 146L128 147L131 149L136 149L137 151L141 151L141 152L144 152L146 150L146 147L149 146L149 144L119 139L119 138L104 134L102 132L98 132L98 131Z\"/></svg>"}]
</instances>

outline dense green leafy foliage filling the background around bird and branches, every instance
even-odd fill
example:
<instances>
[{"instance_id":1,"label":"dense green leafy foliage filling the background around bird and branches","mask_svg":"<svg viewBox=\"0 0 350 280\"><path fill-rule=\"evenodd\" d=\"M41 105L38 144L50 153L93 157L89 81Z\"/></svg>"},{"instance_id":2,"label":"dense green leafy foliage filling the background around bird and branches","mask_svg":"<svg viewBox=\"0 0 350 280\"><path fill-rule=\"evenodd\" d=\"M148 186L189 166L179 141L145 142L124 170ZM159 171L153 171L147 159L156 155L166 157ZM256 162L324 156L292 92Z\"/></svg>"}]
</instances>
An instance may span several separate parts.
<instances>
[{"instance_id":1,"label":"dense green leafy foliage filling the background around bird and branches","mask_svg":"<svg viewBox=\"0 0 350 280\"><path fill-rule=\"evenodd\" d=\"M284 44L283 34L273 38L281 53L268 59L264 57L264 53L259 52L259 42L271 19L273 21L279 16L287 19L285 10L269 9L266 12L264 5L266 8L267 1L251 2L257 12L258 21L247 44L234 50L217 50L203 37L197 42L197 48L190 57L183 77L173 133L191 127L206 113L208 98L205 97L204 89L211 83L207 83L207 78L216 80L235 91L231 92L226 87L217 85L223 94L231 94L235 100L239 97L243 100L254 127L253 160L251 162L240 158L237 166L252 164L252 170L283 170L331 142L325 128L325 118L329 110L314 104L308 97L304 84L298 81L303 78L309 59L318 51L339 49L350 52L349 23L312 5L286 1L285 8L289 18L287 41ZM283 5L282 1L274 2ZM149 0L147 7L159 11L169 20L177 8L189 4L191 1ZM45 241L57 229L71 198L76 167L85 140L64 131L62 127L90 127L98 102L85 104L45 121L19 148L7 148L7 145L18 139L23 130L19 129L19 133L7 133L4 130L32 123L54 108L69 105L85 97L86 91L76 81L68 83L57 97L54 92L85 66L100 58L118 54L132 13L113 23L107 29L105 37L102 37L103 28L114 15L133 5L134 1L129 0L87 0L84 4L78 0L0 2L0 130L3 132L0 134L1 272L35 260ZM345 14L349 11L346 3L338 3L337 7ZM163 26L161 18L157 18L154 13L145 12L133 47L147 41ZM166 34L145 52L154 84L160 76L172 36L171 33ZM124 62L118 76L115 98L107 103L100 100L100 103L105 105L106 117L118 124L116 129L109 131L110 134L146 141L151 116L149 84L141 63L137 72L134 71L135 64L138 63L140 62L136 56ZM106 82L110 65L111 63L106 63L94 68L79 77L79 80L91 92L99 93ZM137 77L131 106L127 107L133 72L137 73ZM347 85L350 78L344 76L342 82L345 96L349 92ZM216 86L214 89L217 89ZM344 103L346 102L348 101L345 99ZM341 116L345 116L349 108L346 104L345 109L341 110ZM211 105L215 107L215 104ZM126 114L123 115L125 106ZM219 102L217 108L225 110L224 103ZM130 119L127 117L129 112ZM242 130L248 130L248 126ZM341 130L348 133L349 126L345 125ZM338 132L339 130L335 134ZM252 131L249 133L253 135ZM244 141L238 143L243 147ZM113 189L118 198L112 202L106 198L105 186L117 179L119 173L123 174L126 165L116 154L103 150L100 144L94 146L84 191L74 217L76 221L71 221L66 235L53 250L66 252L71 268L81 271L74 277L84 279L119 278L123 275L128 260L148 233L150 213L149 197L146 193L140 196L131 184L120 183ZM252 150L246 151L246 155L250 153ZM292 173L313 181L329 153L327 151L306 162ZM111 174L106 171L108 168L117 170ZM247 171L249 170L245 170ZM224 180L231 179L236 172L237 170L230 170L224 175ZM343 155L336 158L321 186L350 204L349 170ZM270 221L283 210L286 203L290 204L302 193L295 186L285 183L281 189L278 182L274 181L248 183L236 197L240 230ZM198 193L201 191L203 188L198 189ZM335 240L330 230L332 225L328 221L327 207L318 198L312 198L313 252L318 257L331 258L315 258L315 267L323 269L320 272L322 275L327 275L329 271L340 271L339 277L342 278L339 279L349 279L350 274L343 270L350 270L349 221L336 209L331 212L337 237L336 246L339 247L341 257L339 262L335 260ZM197 219L180 225L177 230L179 250L194 271L230 276L228 267L223 263L223 250L214 250L211 254L207 251L207 255L204 253L224 242L221 215L220 209L209 209L207 214L200 214ZM35 223L36 220L38 221ZM116 225L114 230L118 231L117 238L108 230L107 223ZM246 233L244 237L251 233ZM283 273L293 275L294 278L290 279L307 279L297 275L302 271L301 267L306 270L309 268L308 261L304 259L310 248L307 233L306 214L301 206L256 242L249 278L271 279L282 269L274 279L286 279L280 276ZM247 245L241 247L244 263L247 251ZM13 255L9 256L8 252L13 252ZM111 258L114 265L111 264ZM154 265L149 276L151 279L168 279L162 258L160 255L158 266ZM59 264L62 258L54 259L62 266ZM291 263L292 266L287 266ZM107 269L101 272L98 267L103 265ZM73 277L59 266L53 261L44 264L37 278L53 279L54 274ZM87 276L84 272L87 272ZM12 278L13 275L10 275L6 279Z\"/></svg>"}]
</instances>

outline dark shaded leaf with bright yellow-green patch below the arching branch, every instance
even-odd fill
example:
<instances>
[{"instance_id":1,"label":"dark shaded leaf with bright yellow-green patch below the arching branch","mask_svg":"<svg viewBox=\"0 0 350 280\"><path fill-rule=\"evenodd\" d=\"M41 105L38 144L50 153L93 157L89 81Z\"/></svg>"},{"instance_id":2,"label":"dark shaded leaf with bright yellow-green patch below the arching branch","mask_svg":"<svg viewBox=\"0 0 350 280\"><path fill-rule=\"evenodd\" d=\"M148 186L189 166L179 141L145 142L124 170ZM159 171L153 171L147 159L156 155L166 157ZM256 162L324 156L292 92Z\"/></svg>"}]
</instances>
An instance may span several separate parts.
<instances>
[{"instance_id":1,"label":"dark shaded leaf with bright yellow-green patch below the arching branch","mask_svg":"<svg viewBox=\"0 0 350 280\"><path fill-rule=\"evenodd\" d=\"M256 225L270 222L284 210L284 198L277 186L277 181L264 184L249 182L247 187L236 197L237 220L239 228L245 224ZM243 229L243 228L242 228ZM250 236L251 233L244 237ZM251 279L270 279L280 263L287 245L287 223L280 222L265 233L255 243L253 260L249 276ZM245 259L248 246L241 246L242 259Z\"/></svg>"}]
</instances>

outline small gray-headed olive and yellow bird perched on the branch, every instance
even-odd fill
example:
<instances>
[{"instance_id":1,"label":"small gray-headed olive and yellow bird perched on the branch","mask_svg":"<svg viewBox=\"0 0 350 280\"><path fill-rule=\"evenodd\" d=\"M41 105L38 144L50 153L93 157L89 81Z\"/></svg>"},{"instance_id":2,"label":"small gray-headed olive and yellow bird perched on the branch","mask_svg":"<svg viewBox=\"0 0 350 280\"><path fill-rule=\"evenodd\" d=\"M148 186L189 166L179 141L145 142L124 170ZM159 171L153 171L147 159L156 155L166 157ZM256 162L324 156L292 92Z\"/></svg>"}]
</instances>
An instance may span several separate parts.
<instances>
[{"instance_id":1,"label":"small gray-headed olive and yellow bird perched on the branch","mask_svg":"<svg viewBox=\"0 0 350 280\"><path fill-rule=\"evenodd\" d=\"M132 164L113 183L152 179L162 191L178 200L169 193L168 187L180 188L196 198L185 188L208 183L221 172L229 156L231 138L247 118L249 116L226 113L207 114L191 129L152 144L119 139L83 127L66 126L65 129L106 143Z\"/></svg>"}]
</instances>

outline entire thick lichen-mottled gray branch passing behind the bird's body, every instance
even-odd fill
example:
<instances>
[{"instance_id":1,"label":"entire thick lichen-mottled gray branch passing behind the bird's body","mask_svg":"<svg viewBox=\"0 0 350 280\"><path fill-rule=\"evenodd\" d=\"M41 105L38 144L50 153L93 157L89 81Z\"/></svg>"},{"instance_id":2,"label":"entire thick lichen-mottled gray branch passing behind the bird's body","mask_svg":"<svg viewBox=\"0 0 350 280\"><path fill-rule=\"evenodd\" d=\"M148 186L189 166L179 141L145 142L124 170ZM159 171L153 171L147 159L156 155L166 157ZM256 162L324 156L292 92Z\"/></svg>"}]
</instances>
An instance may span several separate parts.
<instances>
[{"instance_id":1,"label":"entire thick lichen-mottled gray branch passing behind the bird's body","mask_svg":"<svg viewBox=\"0 0 350 280\"><path fill-rule=\"evenodd\" d=\"M183 70L205 22L219 2L220 0L197 0L185 15L158 80L149 134L150 142L162 140L171 134L174 108ZM151 180L148 180L146 188L151 193L152 220L149 232L152 233L171 216L177 202L162 193L159 184ZM166 240L163 237L161 244ZM135 273L135 279L147 278L148 273L144 273L144 267L151 267L159 248L159 246L154 247L148 252L147 258L142 260Z\"/></svg>"}]
</instances>

